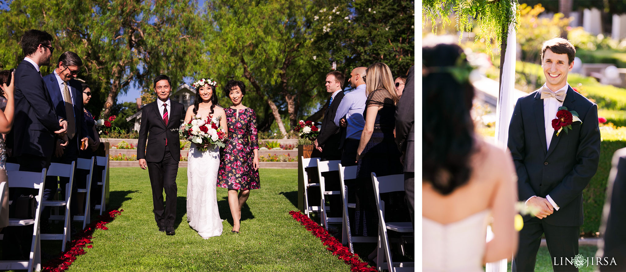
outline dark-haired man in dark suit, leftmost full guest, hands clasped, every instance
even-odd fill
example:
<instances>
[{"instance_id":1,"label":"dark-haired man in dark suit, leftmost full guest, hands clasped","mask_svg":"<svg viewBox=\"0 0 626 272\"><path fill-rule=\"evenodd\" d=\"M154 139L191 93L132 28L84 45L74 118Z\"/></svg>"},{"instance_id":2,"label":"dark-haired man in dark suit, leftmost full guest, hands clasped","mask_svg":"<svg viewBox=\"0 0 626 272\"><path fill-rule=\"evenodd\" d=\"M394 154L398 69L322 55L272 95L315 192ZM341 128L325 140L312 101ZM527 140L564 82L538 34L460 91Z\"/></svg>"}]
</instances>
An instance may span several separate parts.
<instances>
[{"instance_id":1,"label":"dark-haired man in dark suit, leftmost full guest, hands clasped","mask_svg":"<svg viewBox=\"0 0 626 272\"><path fill-rule=\"evenodd\" d=\"M65 132L68 122L54 113L39 73L40 66L50 63L54 51L52 36L45 31L31 29L24 33L20 43L25 58L15 70L15 119L8 141L12 143L12 156L21 171L41 172L50 164L55 136L67 141ZM11 198L32 193L24 190L12 191ZM6 228L3 258L28 259L32 234L33 230L28 228Z\"/></svg>"}]
</instances>

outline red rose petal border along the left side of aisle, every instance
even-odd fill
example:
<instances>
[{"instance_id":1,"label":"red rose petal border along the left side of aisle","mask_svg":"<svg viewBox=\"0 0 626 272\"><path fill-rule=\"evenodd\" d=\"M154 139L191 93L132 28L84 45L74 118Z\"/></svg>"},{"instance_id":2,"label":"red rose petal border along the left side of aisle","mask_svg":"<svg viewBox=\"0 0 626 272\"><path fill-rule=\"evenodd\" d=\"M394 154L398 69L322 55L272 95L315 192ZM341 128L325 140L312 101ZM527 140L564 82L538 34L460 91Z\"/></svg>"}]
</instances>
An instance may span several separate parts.
<instances>
[{"instance_id":1,"label":"red rose petal border along the left side of aisle","mask_svg":"<svg viewBox=\"0 0 626 272\"><path fill-rule=\"evenodd\" d=\"M85 246L87 246L87 248L93 248L93 245L91 245L91 234L93 234L96 229L109 229L106 227L106 224L111 223L122 211L124 211L124 209L120 209L119 211L117 209L110 209L107 213L98 215L96 221L88 224L85 229L78 231L76 239L69 242L68 251L61 253L57 258L49 260L48 263L44 264L41 271L61 272L68 269L74 260L76 260L76 256L85 254L85 249L83 249Z\"/></svg>"}]
</instances>

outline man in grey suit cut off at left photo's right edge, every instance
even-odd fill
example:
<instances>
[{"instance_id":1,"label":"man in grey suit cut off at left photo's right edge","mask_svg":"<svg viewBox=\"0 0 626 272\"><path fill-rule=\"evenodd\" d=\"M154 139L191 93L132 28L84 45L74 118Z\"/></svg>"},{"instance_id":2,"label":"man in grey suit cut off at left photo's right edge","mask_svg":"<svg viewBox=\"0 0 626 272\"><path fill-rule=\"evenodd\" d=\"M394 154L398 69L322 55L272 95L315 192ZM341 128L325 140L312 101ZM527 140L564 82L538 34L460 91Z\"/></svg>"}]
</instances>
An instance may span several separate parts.
<instances>
[{"instance_id":1,"label":"man in grey suit cut off at left photo's right edge","mask_svg":"<svg viewBox=\"0 0 626 272\"><path fill-rule=\"evenodd\" d=\"M408 78L404 85L404 93L398 101L396 107L396 143L403 153L404 163L404 191L406 192L406 201L409 206L409 214L411 222L415 224L413 218L413 201L415 194L415 87L414 87L414 68L409 69Z\"/></svg>"}]
</instances>

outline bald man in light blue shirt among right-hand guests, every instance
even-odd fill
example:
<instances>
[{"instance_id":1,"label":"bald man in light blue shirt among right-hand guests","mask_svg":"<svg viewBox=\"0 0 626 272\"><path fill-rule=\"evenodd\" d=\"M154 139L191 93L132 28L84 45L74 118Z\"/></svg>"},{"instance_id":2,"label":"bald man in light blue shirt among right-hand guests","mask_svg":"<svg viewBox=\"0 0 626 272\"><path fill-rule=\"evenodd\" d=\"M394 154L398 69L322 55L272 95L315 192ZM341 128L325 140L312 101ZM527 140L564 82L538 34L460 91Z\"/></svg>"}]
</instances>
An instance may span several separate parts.
<instances>
[{"instance_id":1,"label":"bald man in light blue shirt among right-hand guests","mask_svg":"<svg viewBox=\"0 0 626 272\"><path fill-rule=\"evenodd\" d=\"M352 88L356 89L347 93L346 96L341 99L334 119L337 126L346 127L346 137L340 145L342 149L342 166L356 165L356 150L359 148L361 133L365 126L363 111L365 110L367 95L365 93L366 85L363 77L365 76L366 69L365 67L357 67L350 73L348 81Z\"/></svg>"}]
</instances>

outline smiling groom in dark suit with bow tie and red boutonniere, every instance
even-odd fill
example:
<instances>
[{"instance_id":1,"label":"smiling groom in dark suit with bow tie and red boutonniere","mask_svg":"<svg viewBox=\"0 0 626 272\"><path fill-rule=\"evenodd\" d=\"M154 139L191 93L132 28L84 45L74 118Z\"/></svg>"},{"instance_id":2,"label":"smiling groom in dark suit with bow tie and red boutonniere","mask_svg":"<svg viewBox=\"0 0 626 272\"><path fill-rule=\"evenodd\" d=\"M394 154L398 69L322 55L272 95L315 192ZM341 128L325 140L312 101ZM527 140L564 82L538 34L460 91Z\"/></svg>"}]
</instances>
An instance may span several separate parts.
<instances>
[{"instance_id":1,"label":"smiling groom in dark suit with bow tie and red boutonniere","mask_svg":"<svg viewBox=\"0 0 626 272\"><path fill-rule=\"evenodd\" d=\"M508 148L517 170L518 197L538 210L535 216L524 217L513 271L535 269L543 233L550 259L571 259L578 254L582 193L598 168L600 129L598 106L567 83L575 54L576 49L566 39L543 43L541 68L546 83L518 99L513 110ZM573 122L569 111L578 114L578 118L572 117ZM559 131L567 124L570 126ZM553 269L578 271L565 262L553 263Z\"/></svg>"}]
</instances>

